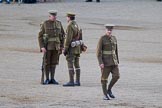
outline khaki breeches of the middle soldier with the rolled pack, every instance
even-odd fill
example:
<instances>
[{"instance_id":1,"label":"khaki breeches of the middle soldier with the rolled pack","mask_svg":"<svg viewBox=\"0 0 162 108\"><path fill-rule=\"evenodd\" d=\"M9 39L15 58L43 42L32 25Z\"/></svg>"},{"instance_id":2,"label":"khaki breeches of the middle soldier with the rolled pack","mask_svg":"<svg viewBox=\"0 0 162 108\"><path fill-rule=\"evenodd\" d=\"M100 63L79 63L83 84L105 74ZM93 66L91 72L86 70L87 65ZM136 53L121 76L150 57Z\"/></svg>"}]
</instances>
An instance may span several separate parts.
<instances>
[{"instance_id":1,"label":"khaki breeches of the middle soldier with the rolled pack","mask_svg":"<svg viewBox=\"0 0 162 108\"><path fill-rule=\"evenodd\" d=\"M73 55L66 56L69 70L74 70L74 67L75 67L75 70L80 69L79 57L80 57L80 54L73 54Z\"/></svg>"}]
</instances>

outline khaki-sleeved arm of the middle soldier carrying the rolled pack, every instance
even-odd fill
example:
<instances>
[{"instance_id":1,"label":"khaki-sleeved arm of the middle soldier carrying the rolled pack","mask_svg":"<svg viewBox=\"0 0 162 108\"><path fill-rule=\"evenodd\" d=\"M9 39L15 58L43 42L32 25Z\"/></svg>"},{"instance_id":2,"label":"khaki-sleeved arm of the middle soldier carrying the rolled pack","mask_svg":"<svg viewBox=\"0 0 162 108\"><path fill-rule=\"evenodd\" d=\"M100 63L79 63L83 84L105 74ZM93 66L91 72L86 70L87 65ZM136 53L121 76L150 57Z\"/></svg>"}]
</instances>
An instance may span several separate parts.
<instances>
[{"instance_id":1,"label":"khaki-sleeved arm of the middle soldier carrying the rolled pack","mask_svg":"<svg viewBox=\"0 0 162 108\"><path fill-rule=\"evenodd\" d=\"M66 39L65 39L65 44L64 44L64 48L66 51L68 51L71 41L72 41L72 37L74 35L74 32L72 30L71 26L67 27L67 34L66 34Z\"/></svg>"}]
</instances>

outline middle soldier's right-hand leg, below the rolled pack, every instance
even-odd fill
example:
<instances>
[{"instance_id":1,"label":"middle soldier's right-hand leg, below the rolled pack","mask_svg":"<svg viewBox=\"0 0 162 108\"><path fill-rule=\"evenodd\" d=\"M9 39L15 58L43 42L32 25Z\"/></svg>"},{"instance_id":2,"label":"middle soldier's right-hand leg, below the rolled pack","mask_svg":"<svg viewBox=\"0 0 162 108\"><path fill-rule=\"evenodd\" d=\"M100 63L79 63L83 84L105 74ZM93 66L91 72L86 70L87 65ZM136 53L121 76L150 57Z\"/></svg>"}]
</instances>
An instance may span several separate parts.
<instances>
[{"instance_id":1,"label":"middle soldier's right-hand leg, below the rolled pack","mask_svg":"<svg viewBox=\"0 0 162 108\"><path fill-rule=\"evenodd\" d=\"M75 66L75 73L76 73L76 81L75 85L80 86L80 65L79 65L79 57L80 55L75 56L74 66Z\"/></svg>"}]
</instances>

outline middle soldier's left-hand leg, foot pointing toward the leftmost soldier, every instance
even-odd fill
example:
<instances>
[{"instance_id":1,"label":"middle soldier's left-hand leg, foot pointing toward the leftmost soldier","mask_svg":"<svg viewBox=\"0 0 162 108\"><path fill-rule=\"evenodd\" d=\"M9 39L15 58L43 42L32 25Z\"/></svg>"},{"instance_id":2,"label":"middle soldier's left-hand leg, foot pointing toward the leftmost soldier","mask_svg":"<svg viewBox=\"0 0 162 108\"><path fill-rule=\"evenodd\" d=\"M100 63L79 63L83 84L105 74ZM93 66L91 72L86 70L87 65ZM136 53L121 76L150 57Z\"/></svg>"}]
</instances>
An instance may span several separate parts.
<instances>
[{"instance_id":1,"label":"middle soldier's left-hand leg, foot pointing toward the leftmost soldier","mask_svg":"<svg viewBox=\"0 0 162 108\"><path fill-rule=\"evenodd\" d=\"M67 60L67 65L68 65L68 70L69 70L70 81L66 84L63 84L63 86L74 86L74 67L73 67L74 57L67 55L66 60Z\"/></svg>"}]
</instances>

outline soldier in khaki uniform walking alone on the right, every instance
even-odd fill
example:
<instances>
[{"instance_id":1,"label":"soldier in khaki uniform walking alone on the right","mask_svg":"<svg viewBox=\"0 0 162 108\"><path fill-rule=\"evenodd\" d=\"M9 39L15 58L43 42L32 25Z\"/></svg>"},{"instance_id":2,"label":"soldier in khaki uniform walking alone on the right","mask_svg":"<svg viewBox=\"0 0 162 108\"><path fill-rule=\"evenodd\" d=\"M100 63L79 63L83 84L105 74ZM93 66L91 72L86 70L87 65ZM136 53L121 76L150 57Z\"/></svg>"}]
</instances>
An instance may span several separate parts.
<instances>
[{"instance_id":1,"label":"soldier in khaki uniform walking alone on the right","mask_svg":"<svg viewBox=\"0 0 162 108\"><path fill-rule=\"evenodd\" d=\"M97 46L97 58L99 66L101 68L101 84L104 94L104 100L115 98L112 94L112 87L118 81L119 75L119 59L118 59L118 48L117 39L112 36L112 29L114 25L106 24L106 34L101 36ZM109 74L112 74L112 79L107 88L107 81Z\"/></svg>"}]
</instances>

